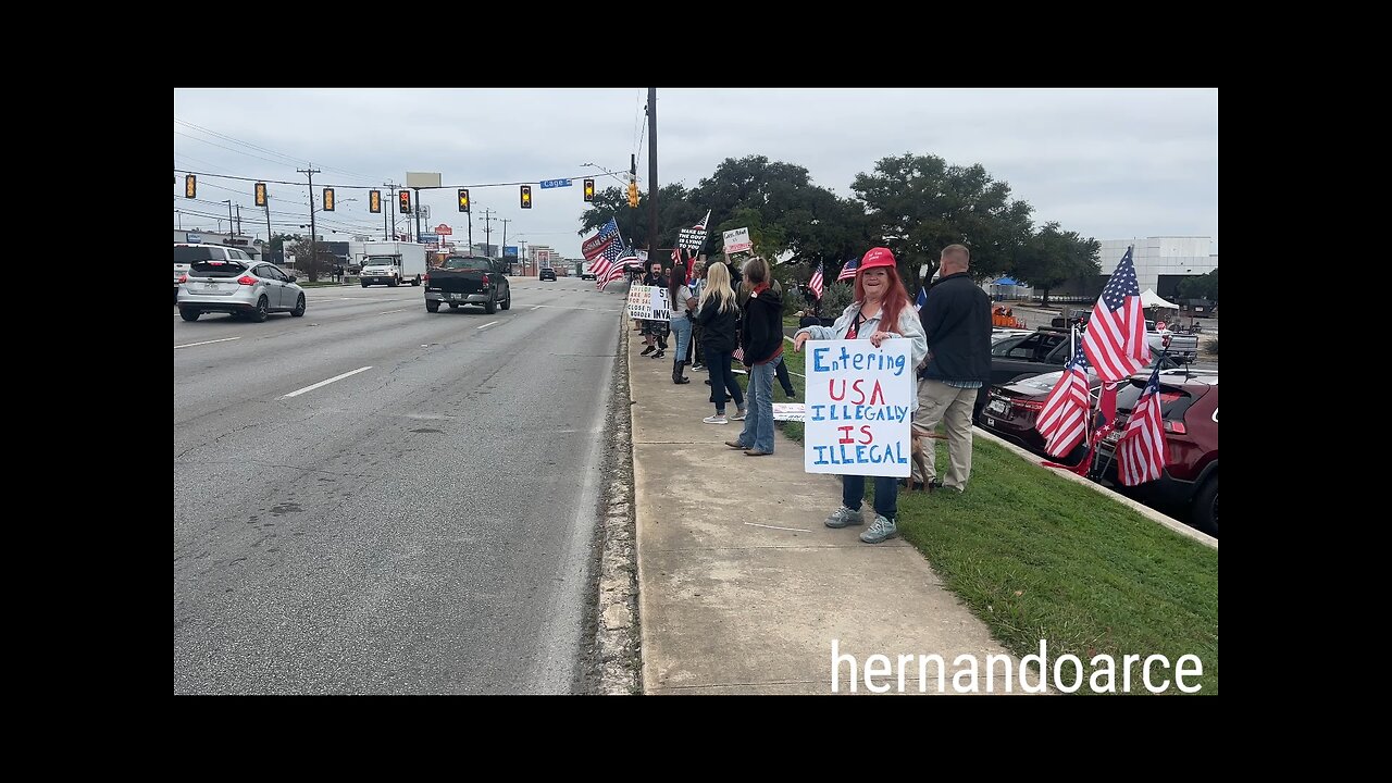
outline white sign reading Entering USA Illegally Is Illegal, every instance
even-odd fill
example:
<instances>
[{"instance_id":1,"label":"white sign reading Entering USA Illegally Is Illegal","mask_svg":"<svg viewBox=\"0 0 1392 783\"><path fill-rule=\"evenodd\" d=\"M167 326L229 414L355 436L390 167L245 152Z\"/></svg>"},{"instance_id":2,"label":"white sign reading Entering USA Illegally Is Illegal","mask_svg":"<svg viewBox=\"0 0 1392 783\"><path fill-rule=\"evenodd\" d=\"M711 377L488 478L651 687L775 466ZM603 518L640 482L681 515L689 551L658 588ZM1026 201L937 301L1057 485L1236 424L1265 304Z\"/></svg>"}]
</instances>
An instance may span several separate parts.
<instances>
[{"instance_id":1,"label":"white sign reading Entering USA Illegally Is Illegal","mask_svg":"<svg viewBox=\"0 0 1392 783\"><path fill-rule=\"evenodd\" d=\"M809 340L803 470L909 475L915 371L908 340Z\"/></svg>"}]
</instances>

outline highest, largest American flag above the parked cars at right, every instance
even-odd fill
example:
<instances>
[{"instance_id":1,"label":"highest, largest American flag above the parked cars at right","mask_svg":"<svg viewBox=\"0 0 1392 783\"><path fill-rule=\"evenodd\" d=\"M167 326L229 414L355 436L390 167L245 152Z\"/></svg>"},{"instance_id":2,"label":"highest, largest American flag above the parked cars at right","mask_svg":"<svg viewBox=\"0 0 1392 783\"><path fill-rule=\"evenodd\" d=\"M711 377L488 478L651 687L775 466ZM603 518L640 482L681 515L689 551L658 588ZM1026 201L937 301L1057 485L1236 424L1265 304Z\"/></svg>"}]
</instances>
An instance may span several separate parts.
<instances>
[{"instance_id":1,"label":"highest, largest American flag above the parked cars at right","mask_svg":"<svg viewBox=\"0 0 1392 783\"><path fill-rule=\"evenodd\" d=\"M1093 307L1083 334L1083 352L1102 380L1121 380L1150 364L1132 248L1126 248L1126 255Z\"/></svg>"}]
</instances>

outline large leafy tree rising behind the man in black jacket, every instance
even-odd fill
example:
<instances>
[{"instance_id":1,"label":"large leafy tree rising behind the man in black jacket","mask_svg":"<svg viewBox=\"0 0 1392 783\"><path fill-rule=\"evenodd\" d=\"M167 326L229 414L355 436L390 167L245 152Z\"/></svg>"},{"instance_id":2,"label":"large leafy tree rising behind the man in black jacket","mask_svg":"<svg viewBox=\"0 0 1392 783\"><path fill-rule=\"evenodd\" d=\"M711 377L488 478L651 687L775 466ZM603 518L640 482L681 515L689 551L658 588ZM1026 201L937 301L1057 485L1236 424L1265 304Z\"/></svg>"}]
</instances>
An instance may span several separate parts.
<instances>
[{"instance_id":1,"label":"large leafy tree rising behind the man in black jacket","mask_svg":"<svg viewBox=\"0 0 1392 783\"><path fill-rule=\"evenodd\" d=\"M935 155L883 157L874 173L851 185L866 203L870 227L899 261L912 288L923 284L919 268L937 269L942 248L972 251L976 277L1008 270L1031 233L1033 208L1011 201L1011 187L980 164L948 166Z\"/></svg>"}]
</instances>

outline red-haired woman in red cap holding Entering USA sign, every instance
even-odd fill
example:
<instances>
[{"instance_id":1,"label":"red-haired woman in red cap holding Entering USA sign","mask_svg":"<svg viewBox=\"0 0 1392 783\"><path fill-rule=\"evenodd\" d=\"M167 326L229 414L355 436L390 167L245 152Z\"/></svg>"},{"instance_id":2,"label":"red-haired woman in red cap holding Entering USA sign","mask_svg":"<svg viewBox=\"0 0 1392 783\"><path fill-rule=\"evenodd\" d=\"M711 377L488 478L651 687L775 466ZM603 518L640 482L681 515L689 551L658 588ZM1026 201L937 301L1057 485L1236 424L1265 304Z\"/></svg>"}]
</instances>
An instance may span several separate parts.
<instances>
[{"instance_id":1,"label":"red-haired woman in red cap holding Entering USA sign","mask_svg":"<svg viewBox=\"0 0 1392 783\"><path fill-rule=\"evenodd\" d=\"M870 340L880 347L885 339L912 340L912 366L923 362L928 343L923 339L919 316L909 307L909 291L899 279L899 265L889 248L873 248L864 254L856 270L855 301L841 313L834 326L805 326L793 337L793 350L802 351L807 340ZM910 414L917 398L910 398ZM905 421L908 426L908 421ZM899 535L899 483L894 476L874 478L874 524L860 534L866 543L880 543ZM841 507L827 517L828 528L862 525L860 504L864 500L866 476L841 476Z\"/></svg>"}]
</instances>

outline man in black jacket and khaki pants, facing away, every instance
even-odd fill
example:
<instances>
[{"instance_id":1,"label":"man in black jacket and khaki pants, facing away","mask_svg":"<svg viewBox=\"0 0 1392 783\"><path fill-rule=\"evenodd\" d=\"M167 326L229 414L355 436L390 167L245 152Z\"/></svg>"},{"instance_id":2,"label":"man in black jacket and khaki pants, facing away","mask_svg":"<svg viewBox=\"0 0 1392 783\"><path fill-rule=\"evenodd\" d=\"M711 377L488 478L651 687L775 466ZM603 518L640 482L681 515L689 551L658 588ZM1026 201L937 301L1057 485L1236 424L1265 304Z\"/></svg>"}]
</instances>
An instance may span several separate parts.
<instances>
[{"instance_id":1,"label":"man in black jacket and khaki pants, facing away","mask_svg":"<svg viewBox=\"0 0 1392 783\"><path fill-rule=\"evenodd\" d=\"M965 245L942 248L942 277L928 288L919 311L928 358L920 373L915 426L933 432L944 422L952 463L947 479L940 481L933 440L924 439L927 475L915 478L922 478L928 489L966 490L972 475L972 412L977 393L991 382L991 300L967 273L970 262L972 252Z\"/></svg>"}]
</instances>

